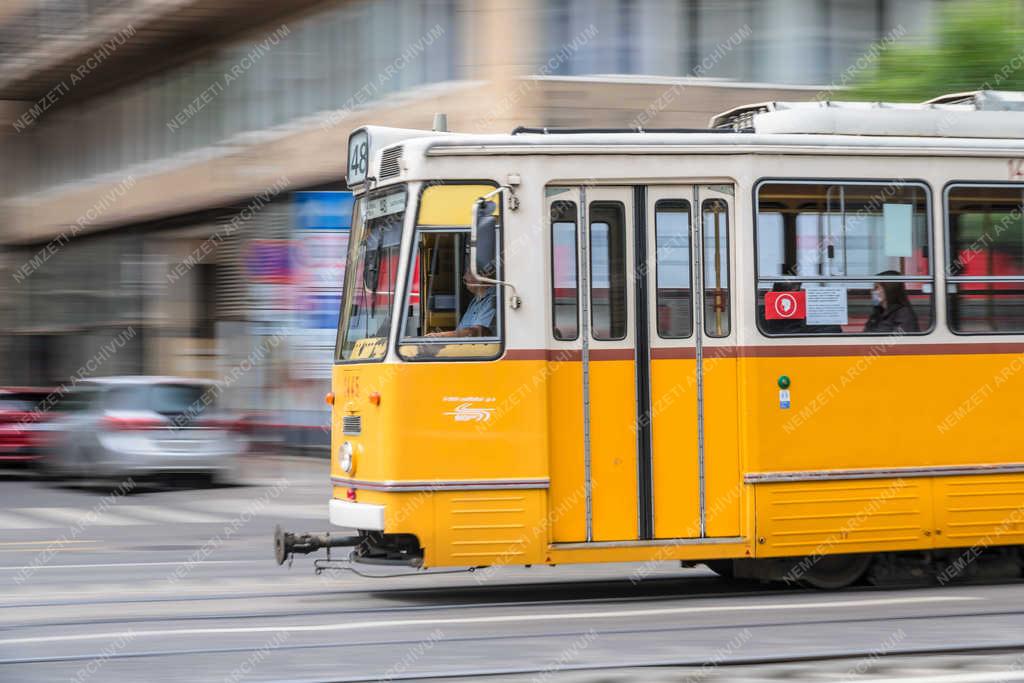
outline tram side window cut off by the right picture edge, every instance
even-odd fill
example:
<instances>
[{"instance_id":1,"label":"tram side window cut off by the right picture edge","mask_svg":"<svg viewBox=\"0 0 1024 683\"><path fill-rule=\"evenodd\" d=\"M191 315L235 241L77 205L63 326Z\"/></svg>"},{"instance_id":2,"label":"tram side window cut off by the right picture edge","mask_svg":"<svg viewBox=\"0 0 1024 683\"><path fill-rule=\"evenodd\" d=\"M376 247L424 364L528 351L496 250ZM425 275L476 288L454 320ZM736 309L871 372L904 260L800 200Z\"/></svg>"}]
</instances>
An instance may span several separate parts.
<instances>
[{"instance_id":1,"label":"tram side window cut off by the right picture edge","mask_svg":"<svg viewBox=\"0 0 1024 683\"><path fill-rule=\"evenodd\" d=\"M1024 332L1024 186L953 185L946 216L949 328Z\"/></svg>"}]
</instances>

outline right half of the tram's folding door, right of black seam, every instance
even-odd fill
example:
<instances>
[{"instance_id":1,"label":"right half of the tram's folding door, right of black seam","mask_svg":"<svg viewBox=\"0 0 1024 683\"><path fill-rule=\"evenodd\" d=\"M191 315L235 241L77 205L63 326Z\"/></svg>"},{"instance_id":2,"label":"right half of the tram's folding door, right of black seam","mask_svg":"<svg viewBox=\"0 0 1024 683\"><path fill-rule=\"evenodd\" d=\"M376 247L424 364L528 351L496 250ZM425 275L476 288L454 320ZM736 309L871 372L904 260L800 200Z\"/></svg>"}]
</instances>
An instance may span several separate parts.
<instances>
[{"instance_id":1,"label":"right half of the tram's folding door, right of black seam","mask_svg":"<svg viewBox=\"0 0 1024 683\"><path fill-rule=\"evenodd\" d=\"M643 194L650 538L737 537L733 186L649 186Z\"/></svg>"}]
</instances>

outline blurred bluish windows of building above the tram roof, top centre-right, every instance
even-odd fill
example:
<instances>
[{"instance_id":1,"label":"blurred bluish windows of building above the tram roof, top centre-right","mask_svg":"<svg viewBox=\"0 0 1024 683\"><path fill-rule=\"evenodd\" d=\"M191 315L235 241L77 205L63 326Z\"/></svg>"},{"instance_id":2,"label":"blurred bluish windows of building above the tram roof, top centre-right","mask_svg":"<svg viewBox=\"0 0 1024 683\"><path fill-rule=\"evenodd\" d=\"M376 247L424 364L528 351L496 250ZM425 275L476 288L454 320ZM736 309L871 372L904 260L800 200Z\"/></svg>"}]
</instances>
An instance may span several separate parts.
<instances>
[{"instance_id":1,"label":"blurred bluish windows of building above the tram roof, top centre-right","mask_svg":"<svg viewBox=\"0 0 1024 683\"><path fill-rule=\"evenodd\" d=\"M555 0L535 61L551 75L694 76L843 85L887 36L927 29L932 0ZM593 30L596 29L596 35ZM795 27L800 27L799 31ZM588 37L592 36L592 37ZM847 79L849 80L849 78Z\"/></svg>"}]
</instances>

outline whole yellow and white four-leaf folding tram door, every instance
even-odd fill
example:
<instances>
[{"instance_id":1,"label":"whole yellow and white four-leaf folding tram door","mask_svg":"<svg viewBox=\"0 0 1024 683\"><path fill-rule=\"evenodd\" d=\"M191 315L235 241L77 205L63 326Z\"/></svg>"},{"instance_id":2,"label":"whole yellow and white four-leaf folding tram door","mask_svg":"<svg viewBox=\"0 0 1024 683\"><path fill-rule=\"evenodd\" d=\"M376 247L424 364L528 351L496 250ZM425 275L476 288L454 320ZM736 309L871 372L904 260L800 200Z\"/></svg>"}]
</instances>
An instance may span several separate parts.
<instances>
[{"instance_id":1,"label":"whole yellow and white four-leaf folding tram door","mask_svg":"<svg viewBox=\"0 0 1024 683\"><path fill-rule=\"evenodd\" d=\"M549 188L555 542L738 536L732 194Z\"/></svg>"}]
</instances>

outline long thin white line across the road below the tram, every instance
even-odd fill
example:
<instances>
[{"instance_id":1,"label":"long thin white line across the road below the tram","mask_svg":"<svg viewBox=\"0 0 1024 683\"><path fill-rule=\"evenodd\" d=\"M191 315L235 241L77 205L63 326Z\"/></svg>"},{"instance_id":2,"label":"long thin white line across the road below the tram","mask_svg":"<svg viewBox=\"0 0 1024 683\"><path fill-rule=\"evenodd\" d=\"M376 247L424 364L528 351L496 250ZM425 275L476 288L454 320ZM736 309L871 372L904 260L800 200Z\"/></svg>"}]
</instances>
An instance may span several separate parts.
<instances>
[{"instance_id":1,"label":"long thin white line across the road below the tram","mask_svg":"<svg viewBox=\"0 0 1024 683\"><path fill-rule=\"evenodd\" d=\"M392 629L403 626L437 626L454 624L515 624L519 622L555 622L595 618L633 618L662 616L667 614L699 614L730 611L779 611L787 609L828 609L831 607L881 607L898 604L925 604L930 602L958 602L983 600L968 596L934 596L920 598L886 598L869 600L830 600L825 602L768 603L755 605L708 605L705 607L659 607L655 609L620 609L607 611L558 612L553 614L511 614L506 616L456 616L446 618L403 618L383 622L344 622L341 624L297 624L293 626L225 627L221 629L160 629L154 631L113 631L106 633L81 633L66 636L36 636L29 638L0 639L0 645L22 645L26 643L49 643L77 640L114 640L137 638L139 636L206 636L241 633L315 633L323 631L356 631L364 629Z\"/></svg>"}]
</instances>

